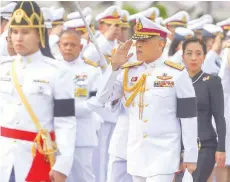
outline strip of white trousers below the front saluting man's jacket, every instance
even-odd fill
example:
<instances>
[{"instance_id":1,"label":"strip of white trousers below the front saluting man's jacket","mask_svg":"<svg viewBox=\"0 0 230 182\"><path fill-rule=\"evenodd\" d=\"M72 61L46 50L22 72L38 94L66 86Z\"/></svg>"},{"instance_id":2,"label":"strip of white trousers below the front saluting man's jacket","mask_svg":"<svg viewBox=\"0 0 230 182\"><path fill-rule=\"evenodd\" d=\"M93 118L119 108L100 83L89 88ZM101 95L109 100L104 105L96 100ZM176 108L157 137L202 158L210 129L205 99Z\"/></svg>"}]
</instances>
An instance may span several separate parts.
<instances>
[{"instance_id":1,"label":"strip of white trousers below the front saluting man's jacket","mask_svg":"<svg viewBox=\"0 0 230 182\"><path fill-rule=\"evenodd\" d=\"M150 178L133 176L133 182L172 182L174 174L156 175Z\"/></svg>"}]
</instances>

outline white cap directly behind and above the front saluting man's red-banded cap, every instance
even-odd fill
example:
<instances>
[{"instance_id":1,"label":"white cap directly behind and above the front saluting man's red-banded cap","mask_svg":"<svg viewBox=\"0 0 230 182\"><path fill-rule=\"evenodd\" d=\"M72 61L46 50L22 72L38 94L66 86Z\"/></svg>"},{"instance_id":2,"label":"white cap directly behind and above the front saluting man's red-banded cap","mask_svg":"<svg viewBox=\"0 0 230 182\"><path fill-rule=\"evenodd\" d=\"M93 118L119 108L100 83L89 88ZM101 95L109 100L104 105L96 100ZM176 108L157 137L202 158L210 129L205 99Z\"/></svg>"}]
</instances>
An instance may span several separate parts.
<instances>
[{"instance_id":1,"label":"white cap directly behind and above the front saluting man's red-banded cap","mask_svg":"<svg viewBox=\"0 0 230 182\"><path fill-rule=\"evenodd\" d=\"M144 16L152 21L155 21L155 19L159 16L159 14L160 14L159 9L156 7L152 7L145 11L131 15L128 21L136 22L136 20L141 16Z\"/></svg>"}]
</instances>

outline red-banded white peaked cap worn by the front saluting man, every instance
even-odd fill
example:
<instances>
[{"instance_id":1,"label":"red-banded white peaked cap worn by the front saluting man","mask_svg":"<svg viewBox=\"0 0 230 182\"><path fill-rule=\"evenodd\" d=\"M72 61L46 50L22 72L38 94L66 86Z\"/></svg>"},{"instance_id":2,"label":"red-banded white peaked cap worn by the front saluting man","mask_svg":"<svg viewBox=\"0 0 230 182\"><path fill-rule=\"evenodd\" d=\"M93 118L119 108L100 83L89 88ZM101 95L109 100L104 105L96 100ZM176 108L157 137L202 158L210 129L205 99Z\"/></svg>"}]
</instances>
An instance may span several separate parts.
<instances>
[{"instance_id":1,"label":"red-banded white peaked cap worn by the front saluting man","mask_svg":"<svg viewBox=\"0 0 230 182\"><path fill-rule=\"evenodd\" d=\"M144 40L150 39L153 36L159 36L166 39L168 34L171 34L171 32L167 28L142 16L137 19L136 31L132 39Z\"/></svg>"}]
</instances>

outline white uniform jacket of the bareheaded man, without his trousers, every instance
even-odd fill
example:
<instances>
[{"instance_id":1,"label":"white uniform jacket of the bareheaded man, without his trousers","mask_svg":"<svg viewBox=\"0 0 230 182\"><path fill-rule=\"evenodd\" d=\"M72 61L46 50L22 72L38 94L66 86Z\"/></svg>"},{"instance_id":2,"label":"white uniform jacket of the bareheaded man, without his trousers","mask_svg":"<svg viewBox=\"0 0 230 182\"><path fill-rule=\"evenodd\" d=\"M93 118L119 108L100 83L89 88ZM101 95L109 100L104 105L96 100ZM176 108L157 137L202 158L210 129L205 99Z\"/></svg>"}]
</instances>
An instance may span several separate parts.
<instances>
[{"instance_id":1,"label":"white uniform jacket of the bareheaded man, without his trousers","mask_svg":"<svg viewBox=\"0 0 230 182\"><path fill-rule=\"evenodd\" d=\"M77 118L77 147L93 147L98 144L96 113L88 106L91 95L96 95L96 80L100 76L99 69L84 63L78 59L67 62L64 61L73 74L74 96L75 96L75 116Z\"/></svg>"}]
</instances>

